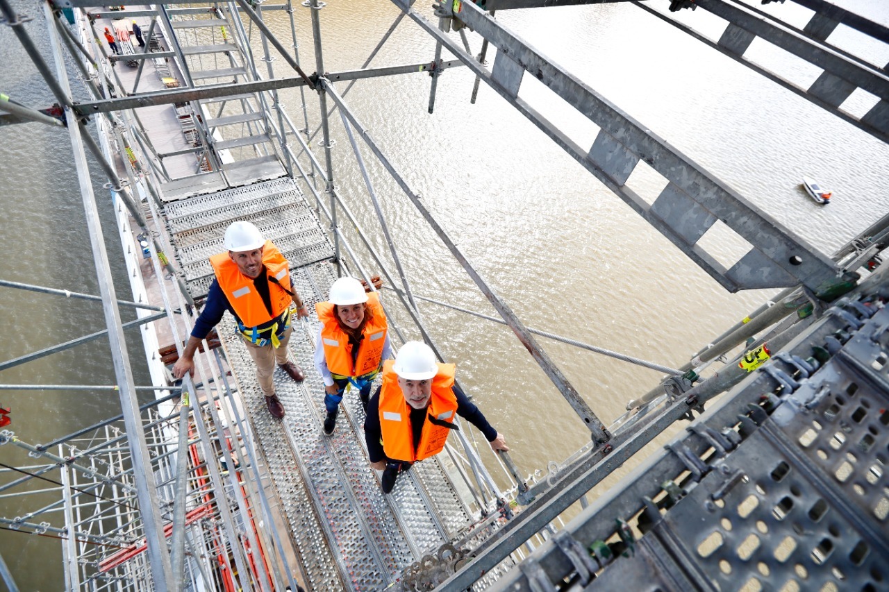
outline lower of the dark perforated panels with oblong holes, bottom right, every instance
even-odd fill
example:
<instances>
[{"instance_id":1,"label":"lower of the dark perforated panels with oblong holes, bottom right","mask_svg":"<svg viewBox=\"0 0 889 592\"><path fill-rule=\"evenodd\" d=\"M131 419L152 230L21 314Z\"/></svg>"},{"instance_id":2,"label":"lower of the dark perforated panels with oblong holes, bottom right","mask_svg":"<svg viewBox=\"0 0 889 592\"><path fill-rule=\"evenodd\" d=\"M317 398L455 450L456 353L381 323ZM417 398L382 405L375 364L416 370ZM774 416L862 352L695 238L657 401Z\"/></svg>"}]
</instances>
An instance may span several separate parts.
<instances>
[{"instance_id":1,"label":"lower of the dark perforated panels with oblong holes, bottom right","mask_svg":"<svg viewBox=\"0 0 889 592\"><path fill-rule=\"evenodd\" d=\"M661 537L683 541L698 569L720 589L740 590L756 580L775 588L821 589L833 582L860 590L880 570L885 555L871 552L856 518L765 429L719 469L669 511L656 532L669 528L669 536ZM747 481L714 500L738 471Z\"/></svg>"}]
</instances>

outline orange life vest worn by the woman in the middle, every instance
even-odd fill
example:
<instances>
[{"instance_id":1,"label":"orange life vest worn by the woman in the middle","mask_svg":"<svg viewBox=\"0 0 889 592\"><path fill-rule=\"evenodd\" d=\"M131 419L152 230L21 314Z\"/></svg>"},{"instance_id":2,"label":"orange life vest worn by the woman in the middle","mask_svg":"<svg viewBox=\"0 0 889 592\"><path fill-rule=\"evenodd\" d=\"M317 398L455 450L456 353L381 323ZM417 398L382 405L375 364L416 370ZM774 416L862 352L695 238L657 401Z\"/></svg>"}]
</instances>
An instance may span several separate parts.
<instances>
[{"instance_id":1,"label":"orange life vest worn by the woman in the middle","mask_svg":"<svg viewBox=\"0 0 889 592\"><path fill-rule=\"evenodd\" d=\"M364 324L363 339L358 344L355 364L352 364L352 345L348 342L348 334L337 323L333 313L333 303L318 302L315 305L318 320L322 324L321 343L324 345L324 360L332 374L355 377L380 370L388 323L377 292L367 295L367 308L372 313L372 319Z\"/></svg>"}]
</instances>

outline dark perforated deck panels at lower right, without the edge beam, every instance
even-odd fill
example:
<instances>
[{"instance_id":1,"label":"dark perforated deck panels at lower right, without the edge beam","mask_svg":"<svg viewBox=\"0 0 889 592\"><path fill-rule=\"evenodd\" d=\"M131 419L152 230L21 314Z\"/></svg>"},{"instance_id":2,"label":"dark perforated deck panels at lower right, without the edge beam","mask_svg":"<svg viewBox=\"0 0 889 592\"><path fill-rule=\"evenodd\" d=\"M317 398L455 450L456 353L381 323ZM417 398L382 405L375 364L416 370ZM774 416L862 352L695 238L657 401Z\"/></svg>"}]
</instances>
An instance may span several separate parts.
<instances>
[{"instance_id":1,"label":"dark perforated deck panels at lower right, without the edge beam","mask_svg":"<svg viewBox=\"0 0 889 592\"><path fill-rule=\"evenodd\" d=\"M590 589L885 589L889 310L853 309L873 317L832 309L839 331L797 348L797 361L770 364L780 399L757 388L767 382L749 382L771 415L755 406L759 426L747 420L736 449L701 454L709 472L700 483L647 515L653 525L629 549L632 558L618 559ZM815 351L831 356L810 375L799 361Z\"/></svg>"}]
</instances>

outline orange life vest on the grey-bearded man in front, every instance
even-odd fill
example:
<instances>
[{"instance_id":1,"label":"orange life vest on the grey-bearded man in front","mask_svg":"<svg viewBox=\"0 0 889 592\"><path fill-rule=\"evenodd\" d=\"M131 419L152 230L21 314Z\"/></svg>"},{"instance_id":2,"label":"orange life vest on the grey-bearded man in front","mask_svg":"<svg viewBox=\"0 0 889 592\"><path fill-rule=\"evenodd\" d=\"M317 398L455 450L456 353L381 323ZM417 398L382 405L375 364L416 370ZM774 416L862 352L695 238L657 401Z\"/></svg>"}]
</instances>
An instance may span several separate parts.
<instances>
[{"instance_id":1,"label":"orange life vest on the grey-bearded man in front","mask_svg":"<svg viewBox=\"0 0 889 592\"><path fill-rule=\"evenodd\" d=\"M436 426L431 421L423 421L420 444L413 450L413 431L411 427L411 405L404 400L401 387L398 386L398 375L392 370L392 360L383 364L383 380L380 387L380 432L382 434L383 451L392 460L416 462L428 459L445 450L447 436L451 428ZM432 379L432 396L427 415L453 423L457 412L457 396L453 394L453 375L456 367L453 364L438 364L438 373Z\"/></svg>"}]
</instances>

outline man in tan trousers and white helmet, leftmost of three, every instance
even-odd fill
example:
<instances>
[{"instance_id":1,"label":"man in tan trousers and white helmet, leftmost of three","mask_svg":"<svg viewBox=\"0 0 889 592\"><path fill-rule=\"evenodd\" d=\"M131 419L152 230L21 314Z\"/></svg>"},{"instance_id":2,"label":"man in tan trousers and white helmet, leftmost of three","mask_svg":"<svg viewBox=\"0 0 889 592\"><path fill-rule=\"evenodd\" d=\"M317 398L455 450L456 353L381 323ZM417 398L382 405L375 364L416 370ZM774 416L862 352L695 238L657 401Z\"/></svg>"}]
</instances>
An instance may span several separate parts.
<instances>
[{"instance_id":1,"label":"man in tan trousers and white helmet, leftmost of three","mask_svg":"<svg viewBox=\"0 0 889 592\"><path fill-rule=\"evenodd\" d=\"M293 300L297 316L308 316L308 310L292 291L287 260L275 244L262 237L259 228L250 222L233 222L225 231L223 244L228 252L210 258L216 277L172 374L181 378L186 372L195 372L197 346L228 310L235 316L236 332L256 363L256 380L266 396L268 412L280 419L284 417L284 405L275 395L272 381L275 362L293 380L306 378L300 366L287 359L287 343L293 330Z\"/></svg>"}]
</instances>

